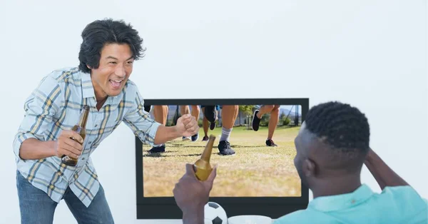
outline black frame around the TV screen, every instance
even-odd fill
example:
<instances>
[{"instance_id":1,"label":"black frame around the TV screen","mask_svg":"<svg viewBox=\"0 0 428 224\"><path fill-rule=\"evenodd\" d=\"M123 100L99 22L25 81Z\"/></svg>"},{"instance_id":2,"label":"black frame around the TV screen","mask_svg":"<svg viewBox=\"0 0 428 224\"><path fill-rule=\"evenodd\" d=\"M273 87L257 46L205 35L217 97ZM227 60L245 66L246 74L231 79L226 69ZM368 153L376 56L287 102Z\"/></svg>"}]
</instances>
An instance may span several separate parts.
<instances>
[{"instance_id":1,"label":"black frame around the TV screen","mask_svg":"<svg viewBox=\"0 0 428 224\"><path fill-rule=\"evenodd\" d=\"M189 98L146 99L145 105L300 105L302 122L309 111L309 98ZM181 219L183 213L173 197L143 196L143 143L136 137L136 204L137 219ZM280 218L282 215L307 208L309 189L301 184L300 197L210 197L219 203L228 214L266 215Z\"/></svg>"}]
</instances>

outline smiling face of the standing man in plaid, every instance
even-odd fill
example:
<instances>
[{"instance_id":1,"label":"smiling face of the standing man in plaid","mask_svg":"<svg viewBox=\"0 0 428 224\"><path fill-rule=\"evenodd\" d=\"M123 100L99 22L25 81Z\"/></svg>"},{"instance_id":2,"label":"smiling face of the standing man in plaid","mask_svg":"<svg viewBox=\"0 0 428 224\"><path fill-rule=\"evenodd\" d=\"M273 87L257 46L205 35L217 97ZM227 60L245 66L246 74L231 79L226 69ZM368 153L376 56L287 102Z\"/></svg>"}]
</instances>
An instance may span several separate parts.
<instances>
[{"instance_id":1,"label":"smiling face of the standing man in plaid","mask_svg":"<svg viewBox=\"0 0 428 224\"><path fill-rule=\"evenodd\" d=\"M88 66L97 101L121 93L132 73L133 61L128 44L106 44L103 47L98 68Z\"/></svg>"}]
</instances>

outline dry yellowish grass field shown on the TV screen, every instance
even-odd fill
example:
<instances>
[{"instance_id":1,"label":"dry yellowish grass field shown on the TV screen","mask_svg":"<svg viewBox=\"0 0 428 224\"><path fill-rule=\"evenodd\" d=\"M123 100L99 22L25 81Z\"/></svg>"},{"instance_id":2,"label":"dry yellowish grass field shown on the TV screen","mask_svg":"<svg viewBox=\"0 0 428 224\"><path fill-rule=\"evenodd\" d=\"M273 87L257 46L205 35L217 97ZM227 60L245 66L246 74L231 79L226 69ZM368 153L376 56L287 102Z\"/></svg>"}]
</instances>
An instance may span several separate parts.
<instances>
[{"instance_id":1,"label":"dry yellowish grass field shown on the TV screen","mask_svg":"<svg viewBox=\"0 0 428 224\"><path fill-rule=\"evenodd\" d=\"M230 143L235 156L220 156L218 141L221 128L215 135L211 164L218 164L218 173L210 196L282 196L299 197L300 178L293 165L295 157L294 138L300 127L278 126L273 140L277 147L267 147L267 127L259 131L234 127ZM149 146L143 146L143 186L145 197L172 196L178 179L185 173L185 163L194 163L203 152L206 141L202 141L200 128L198 141L182 141L177 138L166 143L166 152L148 154Z\"/></svg>"}]
</instances>

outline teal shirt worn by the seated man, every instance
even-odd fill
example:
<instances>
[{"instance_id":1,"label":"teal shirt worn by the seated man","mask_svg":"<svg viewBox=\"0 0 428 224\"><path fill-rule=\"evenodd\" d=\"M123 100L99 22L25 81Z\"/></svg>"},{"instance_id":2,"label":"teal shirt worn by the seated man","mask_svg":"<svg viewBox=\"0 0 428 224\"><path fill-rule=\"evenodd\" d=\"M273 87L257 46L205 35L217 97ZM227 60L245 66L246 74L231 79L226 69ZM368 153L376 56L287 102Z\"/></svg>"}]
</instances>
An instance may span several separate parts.
<instances>
[{"instance_id":1,"label":"teal shirt worn by the seated man","mask_svg":"<svg viewBox=\"0 0 428 224\"><path fill-rule=\"evenodd\" d=\"M367 185L352 193L318 197L307 209L284 215L274 224L285 223L428 223L427 200L410 186L384 188L374 193Z\"/></svg>"}]
</instances>

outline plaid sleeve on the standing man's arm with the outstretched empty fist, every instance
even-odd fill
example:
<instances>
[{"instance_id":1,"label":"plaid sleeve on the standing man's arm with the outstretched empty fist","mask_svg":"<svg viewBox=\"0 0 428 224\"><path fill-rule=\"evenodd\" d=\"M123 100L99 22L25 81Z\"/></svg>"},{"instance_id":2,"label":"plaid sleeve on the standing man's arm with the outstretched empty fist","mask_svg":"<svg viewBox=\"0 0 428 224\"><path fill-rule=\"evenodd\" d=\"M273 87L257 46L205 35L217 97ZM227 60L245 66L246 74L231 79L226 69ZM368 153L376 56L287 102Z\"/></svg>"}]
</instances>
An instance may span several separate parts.
<instances>
[{"instance_id":1,"label":"plaid sleeve on the standing man's arm with the outstretched empty fist","mask_svg":"<svg viewBox=\"0 0 428 224\"><path fill-rule=\"evenodd\" d=\"M133 133L140 138L143 143L150 146L155 145L156 131L161 123L158 123L151 118L150 114L144 111L144 101L138 89L134 91L133 106L131 110L126 113L123 122L131 128Z\"/></svg>"}]
</instances>

